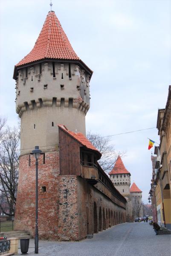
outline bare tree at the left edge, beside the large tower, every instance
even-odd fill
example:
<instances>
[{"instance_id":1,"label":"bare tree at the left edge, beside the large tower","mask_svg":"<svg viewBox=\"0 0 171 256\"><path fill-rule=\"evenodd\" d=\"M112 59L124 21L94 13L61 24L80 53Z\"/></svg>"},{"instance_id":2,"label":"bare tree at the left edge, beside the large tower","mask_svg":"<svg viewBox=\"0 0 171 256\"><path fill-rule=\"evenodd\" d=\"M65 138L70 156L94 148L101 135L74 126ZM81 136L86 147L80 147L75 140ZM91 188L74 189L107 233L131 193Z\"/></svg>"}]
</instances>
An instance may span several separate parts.
<instances>
[{"instance_id":1,"label":"bare tree at the left edge, beside the large tower","mask_svg":"<svg viewBox=\"0 0 171 256\"><path fill-rule=\"evenodd\" d=\"M5 123L0 131L0 210L6 215L14 216L20 137L17 128L4 126Z\"/></svg>"}]
</instances>

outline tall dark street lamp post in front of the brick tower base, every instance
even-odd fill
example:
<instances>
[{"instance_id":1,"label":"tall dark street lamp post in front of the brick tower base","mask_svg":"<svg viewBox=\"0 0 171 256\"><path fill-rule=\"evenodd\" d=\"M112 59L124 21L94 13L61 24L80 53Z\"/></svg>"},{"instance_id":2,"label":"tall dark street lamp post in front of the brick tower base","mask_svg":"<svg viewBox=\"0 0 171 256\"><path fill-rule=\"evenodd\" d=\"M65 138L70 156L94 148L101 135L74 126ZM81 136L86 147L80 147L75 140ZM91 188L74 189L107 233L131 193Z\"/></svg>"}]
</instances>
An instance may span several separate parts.
<instances>
[{"instance_id":1,"label":"tall dark street lamp post in front of the brick tower base","mask_svg":"<svg viewBox=\"0 0 171 256\"><path fill-rule=\"evenodd\" d=\"M35 149L32 153L36 159L36 225L35 225L35 253L38 253L38 158L40 157L42 151L39 149L39 146L35 146Z\"/></svg>"}]
</instances>

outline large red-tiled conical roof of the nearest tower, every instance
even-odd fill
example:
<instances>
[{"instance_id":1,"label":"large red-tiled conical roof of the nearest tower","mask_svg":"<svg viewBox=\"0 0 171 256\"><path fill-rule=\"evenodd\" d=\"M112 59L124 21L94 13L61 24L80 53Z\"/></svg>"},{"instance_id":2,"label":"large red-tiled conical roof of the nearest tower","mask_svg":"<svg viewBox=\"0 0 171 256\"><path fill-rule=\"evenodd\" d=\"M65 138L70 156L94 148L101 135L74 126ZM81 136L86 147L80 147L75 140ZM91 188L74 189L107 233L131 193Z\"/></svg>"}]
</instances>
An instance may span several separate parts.
<instances>
[{"instance_id":1,"label":"large red-tiled conical roof of the nearest tower","mask_svg":"<svg viewBox=\"0 0 171 256\"><path fill-rule=\"evenodd\" d=\"M15 65L14 77L17 68L43 59L80 62L82 66L88 69L90 75L93 73L76 55L67 35L62 29L61 23L53 11L48 12L43 28L31 52Z\"/></svg>"}]
</instances>

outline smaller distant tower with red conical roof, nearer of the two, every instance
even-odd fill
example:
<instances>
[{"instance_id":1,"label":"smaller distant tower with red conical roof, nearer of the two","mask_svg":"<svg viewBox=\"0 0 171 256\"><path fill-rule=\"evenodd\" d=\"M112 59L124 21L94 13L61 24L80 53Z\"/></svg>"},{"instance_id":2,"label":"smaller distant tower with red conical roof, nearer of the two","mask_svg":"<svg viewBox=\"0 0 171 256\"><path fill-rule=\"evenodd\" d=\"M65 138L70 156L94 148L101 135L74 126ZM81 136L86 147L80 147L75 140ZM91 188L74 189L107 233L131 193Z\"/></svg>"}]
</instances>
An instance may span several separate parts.
<instances>
[{"instance_id":1,"label":"smaller distant tower with red conical roof, nearer of the two","mask_svg":"<svg viewBox=\"0 0 171 256\"><path fill-rule=\"evenodd\" d=\"M130 195L130 172L125 168L120 156L118 156L109 176L116 189L126 198L126 221L132 222L133 207Z\"/></svg>"}]
</instances>

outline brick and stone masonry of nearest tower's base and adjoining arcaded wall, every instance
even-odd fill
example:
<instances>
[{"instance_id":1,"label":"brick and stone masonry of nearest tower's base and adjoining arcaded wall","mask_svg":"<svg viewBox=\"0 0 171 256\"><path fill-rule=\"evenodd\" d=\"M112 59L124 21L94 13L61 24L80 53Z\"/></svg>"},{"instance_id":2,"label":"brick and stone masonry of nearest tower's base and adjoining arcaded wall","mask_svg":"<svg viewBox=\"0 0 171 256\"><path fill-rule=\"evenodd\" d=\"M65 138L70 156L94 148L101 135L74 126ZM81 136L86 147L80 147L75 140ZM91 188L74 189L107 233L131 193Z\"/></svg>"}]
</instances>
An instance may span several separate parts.
<instances>
[{"instance_id":1,"label":"brick and stone masonry of nearest tower's base and adjoining arcaded wall","mask_svg":"<svg viewBox=\"0 0 171 256\"><path fill-rule=\"evenodd\" d=\"M39 158L39 238L77 241L126 221L123 202L114 203L110 191L107 196L82 177L59 175L58 163L58 151L46 152L44 164ZM14 225L35 235L35 158L29 155L20 157Z\"/></svg>"}]
</instances>

